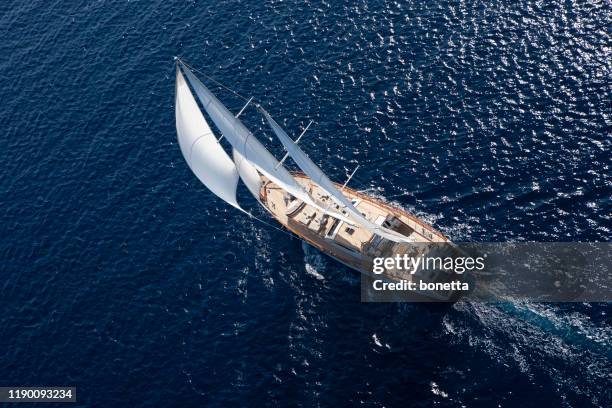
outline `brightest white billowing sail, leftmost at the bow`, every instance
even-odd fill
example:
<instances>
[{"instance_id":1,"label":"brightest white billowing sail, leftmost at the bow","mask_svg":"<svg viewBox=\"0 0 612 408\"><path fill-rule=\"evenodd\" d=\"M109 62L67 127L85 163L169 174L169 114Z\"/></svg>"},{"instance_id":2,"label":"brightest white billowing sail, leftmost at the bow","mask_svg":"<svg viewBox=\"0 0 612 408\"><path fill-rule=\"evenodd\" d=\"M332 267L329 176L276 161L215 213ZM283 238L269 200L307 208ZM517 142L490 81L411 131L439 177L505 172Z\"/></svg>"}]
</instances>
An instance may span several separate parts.
<instances>
[{"instance_id":1,"label":"brightest white billowing sail, leftmost at the bow","mask_svg":"<svg viewBox=\"0 0 612 408\"><path fill-rule=\"evenodd\" d=\"M238 170L210 130L178 67L175 104L178 142L189 168L210 191L242 210L236 201Z\"/></svg>"}]
</instances>

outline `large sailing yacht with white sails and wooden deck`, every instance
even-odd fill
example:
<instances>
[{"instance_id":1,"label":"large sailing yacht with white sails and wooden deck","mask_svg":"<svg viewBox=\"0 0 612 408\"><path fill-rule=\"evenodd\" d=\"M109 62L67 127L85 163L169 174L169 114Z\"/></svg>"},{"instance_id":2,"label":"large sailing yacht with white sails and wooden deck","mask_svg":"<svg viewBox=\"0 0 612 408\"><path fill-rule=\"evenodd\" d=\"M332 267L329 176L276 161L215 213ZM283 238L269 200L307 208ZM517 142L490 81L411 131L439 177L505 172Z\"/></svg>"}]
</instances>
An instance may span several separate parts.
<instances>
[{"instance_id":1,"label":"large sailing yacht with white sails and wooden deck","mask_svg":"<svg viewBox=\"0 0 612 408\"><path fill-rule=\"evenodd\" d=\"M241 181L286 230L344 265L371 277L374 277L376 258L407 253L419 256L428 248L422 244L450 244L441 232L407 211L348 187L354 172L342 185L331 181L298 146L307 128L294 141L260 104L255 104L286 150L285 157L277 160L239 119L252 98L235 115L193 71L184 61L176 59L175 108L179 146L196 177L226 203L251 215L236 198ZM220 137L213 133L198 100L221 132ZM231 146L231 156L221 145L222 139ZM289 157L301 172L287 170L284 162ZM407 276L393 268L375 277L385 282L405 279L446 282L451 279L444 271L417 271ZM453 290L419 294L439 301L454 300L458 295Z\"/></svg>"}]
</instances>

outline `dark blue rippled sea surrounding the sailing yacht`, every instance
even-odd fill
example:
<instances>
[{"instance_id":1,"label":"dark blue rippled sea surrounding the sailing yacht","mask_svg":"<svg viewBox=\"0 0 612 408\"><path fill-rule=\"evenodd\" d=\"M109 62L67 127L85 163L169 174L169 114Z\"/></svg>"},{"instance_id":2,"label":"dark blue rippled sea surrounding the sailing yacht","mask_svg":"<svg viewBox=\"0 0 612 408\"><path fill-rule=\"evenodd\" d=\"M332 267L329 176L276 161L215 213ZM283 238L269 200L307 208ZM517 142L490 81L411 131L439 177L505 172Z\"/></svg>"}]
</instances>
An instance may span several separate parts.
<instances>
[{"instance_id":1,"label":"dark blue rippled sea surrounding the sailing yacht","mask_svg":"<svg viewBox=\"0 0 612 408\"><path fill-rule=\"evenodd\" d=\"M352 188L455 241L607 242L611 26L608 0L2 2L0 385L86 407L612 406L609 304L361 303L354 272L211 194L176 141L173 59L292 135L313 120L301 145L332 179L360 164Z\"/></svg>"}]
</instances>

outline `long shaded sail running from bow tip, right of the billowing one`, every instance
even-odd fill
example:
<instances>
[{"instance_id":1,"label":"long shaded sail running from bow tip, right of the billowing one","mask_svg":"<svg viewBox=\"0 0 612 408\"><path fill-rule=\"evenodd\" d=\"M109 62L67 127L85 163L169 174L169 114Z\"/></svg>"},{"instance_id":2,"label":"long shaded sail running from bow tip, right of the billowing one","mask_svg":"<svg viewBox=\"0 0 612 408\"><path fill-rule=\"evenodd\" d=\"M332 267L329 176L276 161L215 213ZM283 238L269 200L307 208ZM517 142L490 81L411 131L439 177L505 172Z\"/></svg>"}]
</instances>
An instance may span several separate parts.
<instances>
[{"instance_id":1,"label":"long shaded sail running from bow tip, right of the billowing one","mask_svg":"<svg viewBox=\"0 0 612 408\"><path fill-rule=\"evenodd\" d=\"M185 75L193 86L204 110L210 115L225 139L232 145L243 159L263 173L283 190L325 213L352 224L353 222L341 214L328 211L308 195L293 176L278 160L253 136L253 134L213 95L213 93L181 63Z\"/></svg>"}]
</instances>

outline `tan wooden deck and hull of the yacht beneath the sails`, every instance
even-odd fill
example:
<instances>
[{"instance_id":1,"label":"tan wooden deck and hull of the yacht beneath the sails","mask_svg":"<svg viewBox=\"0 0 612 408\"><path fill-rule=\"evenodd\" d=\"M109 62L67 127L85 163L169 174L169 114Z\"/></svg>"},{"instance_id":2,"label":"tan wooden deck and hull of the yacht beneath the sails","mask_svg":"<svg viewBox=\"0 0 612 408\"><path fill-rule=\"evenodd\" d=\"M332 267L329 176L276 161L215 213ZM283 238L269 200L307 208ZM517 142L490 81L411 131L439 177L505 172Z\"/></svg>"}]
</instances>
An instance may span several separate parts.
<instances>
[{"instance_id":1,"label":"tan wooden deck and hull of the yacht beneath the sails","mask_svg":"<svg viewBox=\"0 0 612 408\"><path fill-rule=\"evenodd\" d=\"M320 207L341 212L335 202L307 176L301 173L294 173L293 176L314 197ZM323 211L294 199L263 176L262 181L260 200L279 223L310 245L361 273L372 275L373 261L376 257L394 257L397 254L417 257L427 252L426 245L392 242L372 234L366 228L349 225L327 216ZM339 184L336 185L341 188ZM415 243L450 244L449 239L441 232L403 209L395 208L350 188L344 188L343 193L373 223L398 231ZM411 278L406 276L405 271L396 272L387 270L385 278L389 280Z\"/></svg>"}]
</instances>

